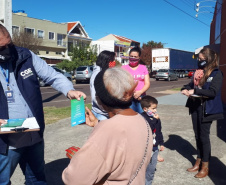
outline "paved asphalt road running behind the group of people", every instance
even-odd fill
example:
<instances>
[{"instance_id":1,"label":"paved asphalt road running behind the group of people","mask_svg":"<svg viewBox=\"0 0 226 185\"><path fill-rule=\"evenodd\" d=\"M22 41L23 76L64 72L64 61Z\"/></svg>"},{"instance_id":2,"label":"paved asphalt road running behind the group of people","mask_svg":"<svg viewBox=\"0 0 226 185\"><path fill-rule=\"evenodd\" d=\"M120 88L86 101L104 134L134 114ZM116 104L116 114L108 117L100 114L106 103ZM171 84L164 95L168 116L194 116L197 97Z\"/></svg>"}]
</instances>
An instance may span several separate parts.
<instances>
[{"instance_id":1,"label":"paved asphalt road running behind the group of people","mask_svg":"<svg viewBox=\"0 0 226 185\"><path fill-rule=\"evenodd\" d=\"M155 79L151 78L151 87L147 91L147 94L152 95L154 97L164 96L166 94L171 94L171 91L165 91L170 90L177 87L182 87L182 85L188 83L190 79L188 78L181 78L178 81L155 81ZM90 89L89 84L76 84L75 86L76 90L82 91L87 95L86 103L91 103L90 98ZM65 98L65 96L56 90L54 90L52 87L42 87L42 100L44 107L48 106L55 106L55 107L68 107L70 106L70 101Z\"/></svg>"}]
</instances>

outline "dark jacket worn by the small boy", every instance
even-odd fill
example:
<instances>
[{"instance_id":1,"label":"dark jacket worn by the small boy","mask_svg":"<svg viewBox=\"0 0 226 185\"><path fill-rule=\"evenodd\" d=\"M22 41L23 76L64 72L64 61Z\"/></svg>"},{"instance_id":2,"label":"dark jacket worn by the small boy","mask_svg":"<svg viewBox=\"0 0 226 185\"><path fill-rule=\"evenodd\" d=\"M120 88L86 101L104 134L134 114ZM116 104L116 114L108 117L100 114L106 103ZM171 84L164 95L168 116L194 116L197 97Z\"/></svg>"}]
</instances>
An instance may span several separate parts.
<instances>
[{"instance_id":1,"label":"dark jacket worn by the small boy","mask_svg":"<svg viewBox=\"0 0 226 185\"><path fill-rule=\"evenodd\" d=\"M156 143L154 146L163 145L163 135L162 135L162 124L160 119L156 119L153 117L149 117L146 112L142 112L141 115L145 118L145 120L148 122L148 124L151 127L152 133L156 129Z\"/></svg>"}]
</instances>

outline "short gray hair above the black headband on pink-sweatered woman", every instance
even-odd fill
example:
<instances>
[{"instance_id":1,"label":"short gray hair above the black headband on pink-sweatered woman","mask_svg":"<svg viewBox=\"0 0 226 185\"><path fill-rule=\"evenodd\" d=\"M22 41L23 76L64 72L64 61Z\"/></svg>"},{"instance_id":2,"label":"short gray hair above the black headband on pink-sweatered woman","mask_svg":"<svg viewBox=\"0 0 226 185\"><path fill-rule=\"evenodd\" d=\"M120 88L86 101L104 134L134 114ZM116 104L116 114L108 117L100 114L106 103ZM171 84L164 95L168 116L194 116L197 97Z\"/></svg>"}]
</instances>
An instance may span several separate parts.
<instances>
[{"instance_id":1,"label":"short gray hair above the black headband on pink-sweatered woman","mask_svg":"<svg viewBox=\"0 0 226 185\"><path fill-rule=\"evenodd\" d=\"M130 98L133 96L135 82L132 75L120 68L113 67L105 71L103 77L104 85L108 92L115 98L125 101L125 95L129 93Z\"/></svg>"}]
</instances>

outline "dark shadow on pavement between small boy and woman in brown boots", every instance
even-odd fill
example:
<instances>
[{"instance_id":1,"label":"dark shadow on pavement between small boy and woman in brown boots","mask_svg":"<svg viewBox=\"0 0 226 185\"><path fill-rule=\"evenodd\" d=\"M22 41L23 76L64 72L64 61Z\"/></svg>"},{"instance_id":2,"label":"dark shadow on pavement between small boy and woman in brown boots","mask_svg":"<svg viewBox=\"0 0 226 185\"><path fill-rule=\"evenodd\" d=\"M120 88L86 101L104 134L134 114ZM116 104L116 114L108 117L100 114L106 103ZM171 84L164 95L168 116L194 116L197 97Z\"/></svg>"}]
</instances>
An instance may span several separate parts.
<instances>
[{"instance_id":1,"label":"dark shadow on pavement between small boy and woman in brown boots","mask_svg":"<svg viewBox=\"0 0 226 185\"><path fill-rule=\"evenodd\" d=\"M169 135L169 139L164 143L164 146L170 150L176 150L192 164L195 163L196 159L192 155L196 154L196 149L181 136Z\"/></svg>"}]
</instances>

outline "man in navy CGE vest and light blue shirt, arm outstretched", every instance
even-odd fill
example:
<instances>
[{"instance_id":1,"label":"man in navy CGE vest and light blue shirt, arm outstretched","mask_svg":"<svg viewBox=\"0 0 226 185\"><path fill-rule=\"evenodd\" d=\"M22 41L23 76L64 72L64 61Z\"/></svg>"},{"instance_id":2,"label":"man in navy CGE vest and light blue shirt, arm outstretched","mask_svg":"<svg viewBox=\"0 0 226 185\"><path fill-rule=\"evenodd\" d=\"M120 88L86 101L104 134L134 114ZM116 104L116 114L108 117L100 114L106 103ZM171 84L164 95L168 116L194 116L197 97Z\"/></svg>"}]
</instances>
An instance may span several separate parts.
<instances>
[{"instance_id":1,"label":"man in navy CGE vest and light blue shirt, arm outstretched","mask_svg":"<svg viewBox=\"0 0 226 185\"><path fill-rule=\"evenodd\" d=\"M26 184L46 184L44 174L44 115L38 77L69 99L86 95L75 91L61 73L26 48L13 45L0 24L0 125L4 119L35 117L40 131L0 134L0 184L11 184L17 164Z\"/></svg>"}]
</instances>

